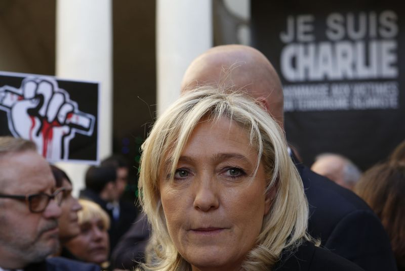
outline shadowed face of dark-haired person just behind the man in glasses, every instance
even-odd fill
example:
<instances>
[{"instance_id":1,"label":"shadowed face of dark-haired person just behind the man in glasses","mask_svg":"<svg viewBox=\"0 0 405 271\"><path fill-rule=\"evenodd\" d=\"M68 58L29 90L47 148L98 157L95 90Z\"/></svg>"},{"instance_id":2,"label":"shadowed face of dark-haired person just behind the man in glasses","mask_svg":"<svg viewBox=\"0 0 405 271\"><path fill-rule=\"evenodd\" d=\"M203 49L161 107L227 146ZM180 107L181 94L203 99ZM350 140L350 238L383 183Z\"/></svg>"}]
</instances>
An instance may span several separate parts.
<instances>
[{"instance_id":1,"label":"shadowed face of dark-haired person just behind the man in glasses","mask_svg":"<svg viewBox=\"0 0 405 271\"><path fill-rule=\"evenodd\" d=\"M65 191L61 205L62 214L59 218L59 239L62 243L65 243L80 233L77 211L81 210L82 206L72 196L72 185L65 178L62 187L65 188Z\"/></svg>"}]
</instances>

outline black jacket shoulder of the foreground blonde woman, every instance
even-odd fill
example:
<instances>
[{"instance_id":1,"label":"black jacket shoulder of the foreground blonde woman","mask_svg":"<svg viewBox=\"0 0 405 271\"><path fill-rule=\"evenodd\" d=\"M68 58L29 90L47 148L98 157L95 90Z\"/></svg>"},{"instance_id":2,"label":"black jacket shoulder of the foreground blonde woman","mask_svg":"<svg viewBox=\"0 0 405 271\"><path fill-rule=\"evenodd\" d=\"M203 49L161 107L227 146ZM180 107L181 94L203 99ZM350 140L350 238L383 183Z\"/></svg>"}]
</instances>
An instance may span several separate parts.
<instances>
[{"instance_id":1,"label":"black jacket shoulder of the foreground blonde woman","mask_svg":"<svg viewBox=\"0 0 405 271\"><path fill-rule=\"evenodd\" d=\"M360 271L358 265L326 249L305 242L295 252L284 252L274 271Z\"/></svg>"}]
</instances>

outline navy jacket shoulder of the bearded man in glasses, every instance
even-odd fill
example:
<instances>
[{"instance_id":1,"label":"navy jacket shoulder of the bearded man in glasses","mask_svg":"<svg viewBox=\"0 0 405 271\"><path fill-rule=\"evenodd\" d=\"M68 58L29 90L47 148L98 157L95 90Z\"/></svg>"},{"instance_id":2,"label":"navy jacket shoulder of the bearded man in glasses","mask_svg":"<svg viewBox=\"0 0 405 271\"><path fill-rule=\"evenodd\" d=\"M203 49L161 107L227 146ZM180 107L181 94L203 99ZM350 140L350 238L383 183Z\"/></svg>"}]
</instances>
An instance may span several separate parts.
<instances>
[{"instance_id":1,"label":"navy jacket shoulder of the bearded man in glasses","mask_svg":"<svg viewBox=\"0 0 405 271\"><path fill-rule=\"evenodd\" d=\"M43 262L34 263L24 268L24 271L100 271L95 264L83 263L62 257L46 259Z\"/></svg>"}]
</instances>

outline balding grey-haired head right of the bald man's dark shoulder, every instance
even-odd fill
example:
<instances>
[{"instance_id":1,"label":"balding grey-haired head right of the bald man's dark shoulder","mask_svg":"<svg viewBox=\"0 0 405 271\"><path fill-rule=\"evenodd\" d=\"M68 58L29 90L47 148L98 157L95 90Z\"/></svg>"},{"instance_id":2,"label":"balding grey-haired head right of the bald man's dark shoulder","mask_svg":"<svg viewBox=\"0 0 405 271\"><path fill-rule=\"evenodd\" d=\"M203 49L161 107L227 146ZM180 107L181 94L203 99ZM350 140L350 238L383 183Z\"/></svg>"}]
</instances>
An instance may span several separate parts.
<instances>
[{"instance_id":1,"label":"balding grey-haired head right of the bald man's dark shoulder","mask_svg":"<svg viewBox=\"0 0 405 271\"><path fill-rule=\"evenodd\" d=\"M349 190L353 190L354 185L361 177L360 169L352 161L335 153L317 155L311 170Z\"/></svg>"}]
</instances>

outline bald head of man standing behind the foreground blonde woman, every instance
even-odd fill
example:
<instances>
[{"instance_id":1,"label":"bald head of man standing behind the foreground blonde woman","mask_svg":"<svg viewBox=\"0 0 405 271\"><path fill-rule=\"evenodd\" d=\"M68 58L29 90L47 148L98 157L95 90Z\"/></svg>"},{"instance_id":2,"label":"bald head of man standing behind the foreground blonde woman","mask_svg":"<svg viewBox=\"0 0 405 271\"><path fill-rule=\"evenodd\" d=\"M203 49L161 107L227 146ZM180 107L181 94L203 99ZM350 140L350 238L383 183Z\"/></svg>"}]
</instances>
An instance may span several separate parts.
<instances>
[{"instance_id":1,"label":"bald head of man standing behind the foreground blonde woman","mask_svg":"<svg viewBox=\"0 0 405 271\"><path fill-rule=\"evenodd\" d=\"M282 125L284 99L281 82L274 67L258 50L242 45L211 48L190 64L183 77L181 92L203 85L246 90L263 102Z\"/></svg>"}]
</instances>

